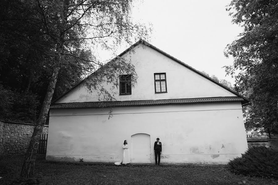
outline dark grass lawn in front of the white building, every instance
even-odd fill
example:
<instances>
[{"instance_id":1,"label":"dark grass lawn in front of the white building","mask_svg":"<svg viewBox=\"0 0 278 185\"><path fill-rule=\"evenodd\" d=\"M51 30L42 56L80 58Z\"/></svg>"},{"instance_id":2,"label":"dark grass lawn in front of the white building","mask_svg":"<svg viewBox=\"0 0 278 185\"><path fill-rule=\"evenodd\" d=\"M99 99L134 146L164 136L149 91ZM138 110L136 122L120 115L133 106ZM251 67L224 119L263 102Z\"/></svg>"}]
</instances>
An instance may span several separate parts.
<instances>
[{"instance_id":1,"label":"dark grass lawn in front of the white building","mask_svg":"<svg viewBox=\"0 0 278 185\"><path fill-rule=\"evenodd\" d=\"M37 158L35 175L40 184L278 184L277 179L234 175L226 165L136 165L110 163L52 163ZM19 177L24 156L0 156L0 184Z\"/></svg>"}]
</instances>

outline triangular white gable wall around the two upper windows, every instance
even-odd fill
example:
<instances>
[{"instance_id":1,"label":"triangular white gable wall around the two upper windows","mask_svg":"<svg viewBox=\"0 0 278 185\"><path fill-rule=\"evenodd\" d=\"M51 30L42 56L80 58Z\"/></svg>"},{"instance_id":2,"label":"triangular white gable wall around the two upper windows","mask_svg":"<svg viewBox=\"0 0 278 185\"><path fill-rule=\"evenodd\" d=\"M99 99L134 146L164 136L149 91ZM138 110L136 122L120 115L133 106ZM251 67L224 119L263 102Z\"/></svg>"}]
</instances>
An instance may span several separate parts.
<instances>
[{"instance_id":1,"label":"triangular white gable wall around the two upper windows","mask_svg":"<svg viewBox=\"0 0 278 185\"><path fill-rule=\"evenodd\" d=\"M148 46L139 44L134 51L122 57L128 61L131 58L138 75L137 84L131 95L120 96L119 88L114 89L116 101L237 96ZM166 72L167 93L155 94L154 73L159 72ZM106 83L102 86L111 92L111 86ZM91 101L98 101L97 92L90 94L86 86L80 84L55 103Z\"/></svg>"}]
</instances>

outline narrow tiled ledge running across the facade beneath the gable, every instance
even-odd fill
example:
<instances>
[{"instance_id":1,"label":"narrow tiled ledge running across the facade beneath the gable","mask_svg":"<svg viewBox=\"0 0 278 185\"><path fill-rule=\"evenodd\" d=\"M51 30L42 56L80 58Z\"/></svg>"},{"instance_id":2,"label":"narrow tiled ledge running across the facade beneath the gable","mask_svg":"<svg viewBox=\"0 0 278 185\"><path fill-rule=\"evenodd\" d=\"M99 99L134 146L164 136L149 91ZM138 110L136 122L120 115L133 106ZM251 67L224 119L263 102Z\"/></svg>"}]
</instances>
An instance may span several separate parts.
<instances>
[{"instance_id":1,"label":"narrow tiled ledge running across the facade beneath the gable","mask_svg":"<svg viewBox=\"0 0 278 185\"><path fill-rule=\"evenodd\" d=\"M51 109L78 109L78 108L102 108L118 106L141 106L141 105L161 105L161 104L188 104L207 102L227 102L244 101L242 97L210 97L210 98L187 98L173 100L142 100L142 101L107 101L107 102L80 102L80 103L60 103L50 105Z\"/></svg>"}]
</instances>

